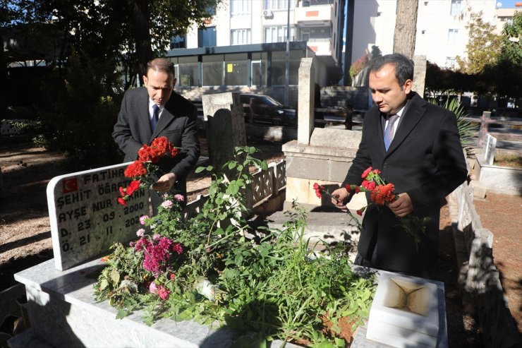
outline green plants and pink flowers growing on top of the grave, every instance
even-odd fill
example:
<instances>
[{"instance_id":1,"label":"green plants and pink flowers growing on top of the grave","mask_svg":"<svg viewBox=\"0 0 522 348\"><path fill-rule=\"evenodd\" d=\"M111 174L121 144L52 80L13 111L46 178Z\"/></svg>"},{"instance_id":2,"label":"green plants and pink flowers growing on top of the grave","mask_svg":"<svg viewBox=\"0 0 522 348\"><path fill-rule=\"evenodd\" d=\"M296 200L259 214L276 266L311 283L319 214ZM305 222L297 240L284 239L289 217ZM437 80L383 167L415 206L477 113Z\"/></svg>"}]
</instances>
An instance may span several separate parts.
<instances>
[{"instance_id":1,"label":"green plants and pink flowers growing on top of the grave","mask_svg":"<svg viewBox=\"0 0 522 348\"><path fill-rule=\"evenodd\" d=\"M263 347L274 339L346 346L336 337L336 323L350 317L359 325L368 318L372 279L351 271L341 246L315 255L303 237L306 214L297 205L286 212L289 221L281 229L249 230L249 169L266 168L254 152L237 148L236 159L222 168L226 176L213 167L197 169L211 171L214 179L197 216L184 220L167 197L170 203L156 216L143 217L138 241L113 246L95 284L97 300L119 308L118 318L140 309L147 324L173 318L227 325L238 332L236 347L253 340ZM150 262L154 255L161 262ZM327 332L325 318L333 323Z\"/></svg>"}]
</instances>

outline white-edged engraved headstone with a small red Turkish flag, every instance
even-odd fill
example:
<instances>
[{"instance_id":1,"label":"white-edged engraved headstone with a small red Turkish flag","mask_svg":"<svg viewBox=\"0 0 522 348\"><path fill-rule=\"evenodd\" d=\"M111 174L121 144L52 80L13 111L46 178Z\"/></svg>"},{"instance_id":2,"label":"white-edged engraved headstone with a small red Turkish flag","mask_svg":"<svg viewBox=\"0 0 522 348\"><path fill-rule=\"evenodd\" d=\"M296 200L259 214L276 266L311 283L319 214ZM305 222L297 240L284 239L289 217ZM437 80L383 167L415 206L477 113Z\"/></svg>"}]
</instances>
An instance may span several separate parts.
<instances>
[{"instance_id":1,"label":"white-edged engraved headstone with a small red Turkish flag","mask_svg":"<svg viewBox=\"0 0 522 348\"><path fill-rule=\"evenodd\" d=\"M140 216L149 212L149 191L133 193L127 205L116 200L129 163L56 176L47 185L54 265L67 270L109 252L114 241L136 238Z\"/></svg>"}]
</instances>

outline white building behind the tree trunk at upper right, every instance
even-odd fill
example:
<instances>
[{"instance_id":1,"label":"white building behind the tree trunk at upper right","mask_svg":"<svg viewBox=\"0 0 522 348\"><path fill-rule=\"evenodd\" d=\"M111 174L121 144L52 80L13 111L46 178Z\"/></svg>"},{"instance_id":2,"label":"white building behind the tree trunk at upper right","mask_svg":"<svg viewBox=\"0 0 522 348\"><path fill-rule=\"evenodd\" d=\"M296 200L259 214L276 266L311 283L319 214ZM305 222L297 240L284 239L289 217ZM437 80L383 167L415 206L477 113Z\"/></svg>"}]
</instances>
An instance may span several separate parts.
<instances>
[{"instance_id":1,"label":"white building behind the tree trunk at upper right","mask_svg":"<svg viewBox=\"0 0 522 348\"><path fill-rule=\"evenodd\" d=\"M456 56L466 56L471 13L482 12L482 20L502 32L522 1L514 0L419 0L415 55L425 55L438 66L451 68ZM383 54L393 49L396 0L355 0L351 61L372 45Z\"/></svg>"}]
</instances>

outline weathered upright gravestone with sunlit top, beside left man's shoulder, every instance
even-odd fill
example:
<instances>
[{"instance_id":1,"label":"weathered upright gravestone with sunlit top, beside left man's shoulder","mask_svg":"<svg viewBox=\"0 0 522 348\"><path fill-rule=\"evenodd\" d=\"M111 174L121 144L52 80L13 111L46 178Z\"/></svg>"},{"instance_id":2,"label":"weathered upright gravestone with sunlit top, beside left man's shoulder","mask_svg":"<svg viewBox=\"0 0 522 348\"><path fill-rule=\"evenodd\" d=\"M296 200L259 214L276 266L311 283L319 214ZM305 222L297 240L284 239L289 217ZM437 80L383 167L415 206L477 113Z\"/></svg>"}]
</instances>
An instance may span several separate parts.
<instances>
[{"instance_id":1,"label":"weathered upright gravestone with sunlit top, beside left man's shoulder","mask_svg":"<svg viewBox=\"0 0 522 348\"><path fill-rule=\"evenodd\" d=\"M215 168L233 158L236 146L246 146L245 117L238 92L202 95L210 163Z\"/></svg>"}]
</instances>

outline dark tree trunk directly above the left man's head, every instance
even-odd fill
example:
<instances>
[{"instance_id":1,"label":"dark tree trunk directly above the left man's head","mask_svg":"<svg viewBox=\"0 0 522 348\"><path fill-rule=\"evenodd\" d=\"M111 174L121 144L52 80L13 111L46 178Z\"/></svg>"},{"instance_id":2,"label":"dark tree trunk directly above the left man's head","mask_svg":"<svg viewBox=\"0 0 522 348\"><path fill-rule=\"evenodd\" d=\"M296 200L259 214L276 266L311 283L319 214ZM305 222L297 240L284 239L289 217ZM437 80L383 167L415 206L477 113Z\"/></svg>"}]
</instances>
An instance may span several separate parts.
<instances>
[{"instance_id":1,"label":"dark tree trunk directly above the left man's head","mask_svg":"<svg viewBox=\"0 0 522 348\"><path fill-rule=\"evenodd\" d=\"M148 0L135 0L133 9L136 56L138 57L138 73L140 77L145 75L147 62L152 59L148 3Z\"/></svg>"}]
</instances>

